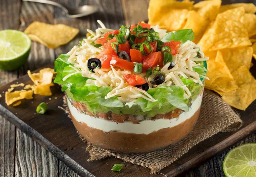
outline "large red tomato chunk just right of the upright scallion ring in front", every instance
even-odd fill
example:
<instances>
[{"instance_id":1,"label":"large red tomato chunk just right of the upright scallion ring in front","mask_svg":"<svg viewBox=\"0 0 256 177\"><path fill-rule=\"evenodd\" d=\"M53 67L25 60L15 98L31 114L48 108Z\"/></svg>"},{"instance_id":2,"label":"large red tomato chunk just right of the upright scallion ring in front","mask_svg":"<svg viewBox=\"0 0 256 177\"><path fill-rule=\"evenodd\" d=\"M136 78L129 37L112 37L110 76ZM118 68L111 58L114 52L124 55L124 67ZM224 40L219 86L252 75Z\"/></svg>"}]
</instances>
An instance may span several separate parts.
<instances>
[{"instance_id":1,"label":"large red tomato chunk just right of the upright scallion ring in front","mask_svg":"<svg viewBox=\"0 0 256 177\"><path fill-rule=\"evenodd\" d=\"M161 53L162 53L161 51L153 52L145 57L142 65L143 72L145 72L148 68L154 67L161 62L161 57L162 57ZM162 58L162 62L163 62L163 58Z\"/></svg>"}]
</instances>

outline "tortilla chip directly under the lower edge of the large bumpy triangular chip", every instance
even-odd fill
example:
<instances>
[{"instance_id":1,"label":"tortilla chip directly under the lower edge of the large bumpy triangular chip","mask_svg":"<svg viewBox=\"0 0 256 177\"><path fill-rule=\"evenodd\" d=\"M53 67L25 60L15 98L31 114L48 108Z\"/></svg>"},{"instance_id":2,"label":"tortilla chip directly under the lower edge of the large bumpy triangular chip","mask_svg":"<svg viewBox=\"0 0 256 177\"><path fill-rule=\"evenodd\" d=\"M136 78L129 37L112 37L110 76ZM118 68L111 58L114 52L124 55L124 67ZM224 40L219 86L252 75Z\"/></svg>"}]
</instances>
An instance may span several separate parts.
<instances>
[{"instance_id":1,"label":"tortilla chip directly under the lower edge of the large bumpy triangular chip","mask_svg":"<svg viewBox=\"0 0 256 177\"><path fill-rule=\"evenodd\" d=\"M243 65L245 65L248 69L250 68L253 52L251 46L226 48L220 50L220 52L231 73Z\"/></svg>"}]
</instances>

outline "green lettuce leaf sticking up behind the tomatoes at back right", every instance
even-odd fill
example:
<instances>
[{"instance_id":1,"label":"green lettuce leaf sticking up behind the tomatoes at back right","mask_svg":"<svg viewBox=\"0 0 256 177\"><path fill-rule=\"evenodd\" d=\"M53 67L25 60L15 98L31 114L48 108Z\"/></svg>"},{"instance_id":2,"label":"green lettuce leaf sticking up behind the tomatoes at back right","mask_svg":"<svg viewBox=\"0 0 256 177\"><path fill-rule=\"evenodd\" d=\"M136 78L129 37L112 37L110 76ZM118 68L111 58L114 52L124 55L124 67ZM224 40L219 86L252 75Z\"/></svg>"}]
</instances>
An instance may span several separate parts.
<instances>
[{"instance_id":1,"label":"green lettuce leaf sticking up behind the tomatoes at back right","mask_svg":"<svg viewBox=\"0 0 256 177\"><path fill-rule=\"evenodd\" d=\"M170 42L170 41L180 41L181 43L185 43L188 40L192 41L194 39L194 32L192 29L184 29L178 30L175 32L167 33L163 38L162 42Z\"/></svg>"}]
</instances>

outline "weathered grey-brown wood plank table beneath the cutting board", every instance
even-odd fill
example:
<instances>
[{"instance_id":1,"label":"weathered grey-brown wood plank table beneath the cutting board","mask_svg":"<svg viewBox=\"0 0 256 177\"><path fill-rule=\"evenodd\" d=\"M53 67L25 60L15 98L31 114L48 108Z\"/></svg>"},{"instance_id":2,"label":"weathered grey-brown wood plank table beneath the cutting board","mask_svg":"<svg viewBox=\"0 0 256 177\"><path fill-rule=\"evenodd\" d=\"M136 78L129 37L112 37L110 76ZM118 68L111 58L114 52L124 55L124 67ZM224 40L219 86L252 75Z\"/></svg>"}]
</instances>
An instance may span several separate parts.
<instances>
[{"instance_id":1,"label":"weathered grey-brown wood plank table beneath the cutting board","mask_svg":"<svg viewBox=\"0 0 256 177\"><path fill-rule=\"evenodd\" d=\"M28 62L17 71L0 71L0 85L26 74L28 69L35 70L53 62L59 54L66 53L85 36L85 29L94 30L97 26L97 19L102 20L106 27L112 29L117 29L121 24L128 25L147 20L149 0L58 1L70 7L95 4L99 6L100 12L83 18L69 19L62 14L60 9L50 5L22 2L20 0L0 0L0 30L15 29L24 31L34 21L50 24L63 23L80 30L73 41L56 49L50 49L42 44L32 42ZM256 133L238 142L235 146L247 142L256 142ZM224 176L222 161L230 149L180 176ZM109 170L111 167L109 166ZM22 133L0 115L0 176L10 177L14 175L78 176L62 161L59 161L44 147ZM150 174L147 175L150 176ZM159 174L159 176L163 175Z\"/></svg>"}]
</instances>

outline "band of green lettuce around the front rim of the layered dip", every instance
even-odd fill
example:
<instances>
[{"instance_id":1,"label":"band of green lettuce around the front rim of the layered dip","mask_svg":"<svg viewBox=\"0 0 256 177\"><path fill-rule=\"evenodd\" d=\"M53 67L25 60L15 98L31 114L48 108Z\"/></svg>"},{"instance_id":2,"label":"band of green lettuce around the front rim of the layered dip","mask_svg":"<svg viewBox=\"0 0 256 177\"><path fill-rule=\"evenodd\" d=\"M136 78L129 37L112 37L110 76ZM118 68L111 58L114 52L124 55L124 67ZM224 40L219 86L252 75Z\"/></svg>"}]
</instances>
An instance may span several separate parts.
<instances>
[{"instance_id":1,"label":"band of green lettuce around the front rim of the layered dip","mask_svg":"<svg viewBox=\"0 0 256 177\"><path fill-rule=\"evenodd\" d=\"M183 98L184 90L180 86L161 86L155 89L149 89L147 93L158 101L151 102L139 98L135 101L135 105L129 108L128 105L124 105L119 101L117 96L105 99L105 96L111 89L106 86L97 87L94 84L87 84L86 81L91 78L85 78L80 73L71 75L63 81L66 75L77 72L69 66L74 65L68 62L68 57L69 55L61 54L55 60L55 71L57 75L54 82L62 85L62 91L65 91L69 98L83 102L86 108L93 113L106 113L111 111L116 114L146 115L153 117L156 114L165 114L176 108L184 111L189 110L188 105L191 100ZM202 86L196 83L194 84L191 90L193 90L192 94L196 96Z\"/></svg>"}]
</instances>

